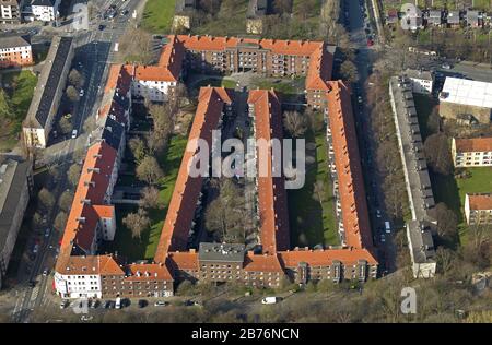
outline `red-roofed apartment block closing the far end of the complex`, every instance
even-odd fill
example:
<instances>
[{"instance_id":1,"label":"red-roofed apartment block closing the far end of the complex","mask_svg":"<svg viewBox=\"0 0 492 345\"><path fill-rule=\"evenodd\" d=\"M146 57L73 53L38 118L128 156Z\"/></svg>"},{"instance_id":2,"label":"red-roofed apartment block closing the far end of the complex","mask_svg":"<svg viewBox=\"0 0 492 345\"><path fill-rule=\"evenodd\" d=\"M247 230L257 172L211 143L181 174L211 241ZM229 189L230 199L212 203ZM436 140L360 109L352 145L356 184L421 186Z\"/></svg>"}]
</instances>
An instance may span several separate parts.
<instances>
[{"instance_id":1,"label":"red-roofed apartment block closing the far end of the complex","mask_svg":"<svg viewBox=\"0 0 492 345\"><path fill-rule=\"evenodd\" d=\"M168 38L159 66L169 69L174 76L171 82L187 70L215 74L253 71L265 76L305 76L307 103L315 108L326 107L324 93L328 91L327 82L331 79L335 47L323 41L185 35Z\"/></svg>"}]
</instances>

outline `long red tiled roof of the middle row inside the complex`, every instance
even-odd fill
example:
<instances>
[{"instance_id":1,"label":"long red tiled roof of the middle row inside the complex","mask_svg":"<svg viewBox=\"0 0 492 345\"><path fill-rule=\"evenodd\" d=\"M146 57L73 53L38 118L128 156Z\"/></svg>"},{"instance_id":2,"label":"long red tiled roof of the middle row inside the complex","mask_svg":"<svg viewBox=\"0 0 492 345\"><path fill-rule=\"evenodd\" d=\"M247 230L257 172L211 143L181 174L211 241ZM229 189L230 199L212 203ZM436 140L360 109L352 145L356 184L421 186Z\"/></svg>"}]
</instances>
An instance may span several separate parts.
<instances>
[{"instance_id":1,"label":"long red tiled roof of the middle row inside the complex","mask_svg":"<svg viewBox=\"0 0 492 345\"><path fill-rule=\"evenodd\" d=\"M276 93L266 90L251 91L248 104L255 105L256 140L265 140L266 143L270 143L272 139L282 140L282 110ZM283 172L280 171L281 177L273 177L271 147L268 150L268 156L265 156L262 151L261 145L258 145L260 236L262 252L274 254L277 250L289 248L286 193Z\"/></svg>"}]
</instances>

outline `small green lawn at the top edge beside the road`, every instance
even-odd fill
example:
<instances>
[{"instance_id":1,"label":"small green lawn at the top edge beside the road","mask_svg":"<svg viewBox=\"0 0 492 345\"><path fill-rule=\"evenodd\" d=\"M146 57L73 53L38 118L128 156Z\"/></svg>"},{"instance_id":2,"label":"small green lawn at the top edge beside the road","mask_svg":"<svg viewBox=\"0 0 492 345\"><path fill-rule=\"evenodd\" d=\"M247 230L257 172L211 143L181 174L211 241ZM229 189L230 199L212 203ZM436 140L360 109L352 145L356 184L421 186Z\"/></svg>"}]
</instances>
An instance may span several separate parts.
<instances>
[{"instance_id":1,"label":"small green lawn at the top edge beside the road","mask_svg":"<svg viewBox=\"0 0 492 345\"><path fill-rule=\"evenodd\" d=\"M148 0L142 14L142 27L153 34L169 34L175 4L175 0Z\"/></svg>"}]
</instances>

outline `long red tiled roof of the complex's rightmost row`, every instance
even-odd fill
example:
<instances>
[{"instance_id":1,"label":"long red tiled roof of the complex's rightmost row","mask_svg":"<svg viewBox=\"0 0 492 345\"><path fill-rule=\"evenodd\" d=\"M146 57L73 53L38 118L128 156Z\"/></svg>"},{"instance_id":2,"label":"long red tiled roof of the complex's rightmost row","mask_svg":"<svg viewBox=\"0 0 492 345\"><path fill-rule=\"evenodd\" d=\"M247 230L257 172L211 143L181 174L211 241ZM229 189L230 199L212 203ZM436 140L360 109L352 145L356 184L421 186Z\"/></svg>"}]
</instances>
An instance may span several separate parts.
<instances>
[{"instance_id":1,"label":"long red tiled roof of the complex's rightmost row","mask_svg":"<svg viewBox=\"0 0 492 345\"><path fill-rule=\"evenodd\" d=\"M329 82L328 116L338 174L345 242L353 248L371 248L372 235L353 120L350 91L342 81Z\"/></svg>"}]
</instances>

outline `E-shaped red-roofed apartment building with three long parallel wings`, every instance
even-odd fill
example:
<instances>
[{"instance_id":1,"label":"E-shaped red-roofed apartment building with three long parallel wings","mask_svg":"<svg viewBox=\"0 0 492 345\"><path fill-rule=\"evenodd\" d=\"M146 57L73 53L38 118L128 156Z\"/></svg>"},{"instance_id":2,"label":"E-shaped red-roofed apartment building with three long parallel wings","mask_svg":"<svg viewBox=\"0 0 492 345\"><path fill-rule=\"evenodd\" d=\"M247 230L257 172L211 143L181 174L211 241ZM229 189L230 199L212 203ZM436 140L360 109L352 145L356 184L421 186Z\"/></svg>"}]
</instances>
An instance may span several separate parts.
<instances>
[{"instance_id":1,"label":"E-shaped red-roofed apartment building with three long parallel wings","mask_svg":"<svg viewBox=\"0 0 492 345\"><path fill-rule=\"evenodd\" d=\"M331 105L328 114L332 131L340 133L336 139L339 145L335 147L335 151L337 151L338 167L343 169L340 179L345 224L343 246L338 249L321 250L290 249L284 181L281 177L272 177L272 165L268 165L268 174L256 179L261 252L245 251L244 245L203 242L200 243L198 252L194 249L187 250L186 237L192 231L192 219L196 213L192 207L181 210L179 204L188 201L187 205L198 205L197 195L200 193L201 182L198 187L191 188L192 179L188 177L187 167L192 159L192 154L186 153L169 204L171 213L167 214L154 258L155 262L167 263L176 282L183 279L241 282L248 286L278 287L285 275L300 284L320 279L366 281L377 276L378 263L373 253L350 92L340 81L329 82L329 88L331 92L325 97L328 99L328 105ZM221 88L203 87L201 90L199 98L201 102L197 114L202 114L204 111L202 107L207 106L215 109L209 110L212 111L209 114L218 114L216 105L210 105L208 103L210 98L203 95L219 90ZM248 107L255 139L282 138L280 102L274 92L251 91ZM209 119L215 121L216 117L218 115L209 116ZM201 116L197 117L194 128L203 128L202 121ZM208 126L204 127L206 132L209 129ZM190 140L191 138L197 138L197 134L194 133ZM352 142L353 140L355 142ZM195 153L192 147L191 153ZM265 155L258 151L256 159L260 154ZM268 151L265 160L272 159L274 160L272 152ZM257 169L259 168L257 163ZM185 177L181 180L179 176L183 172ZM185 189L186 186L188 190Z\"/></svg>"}]
</instances>

